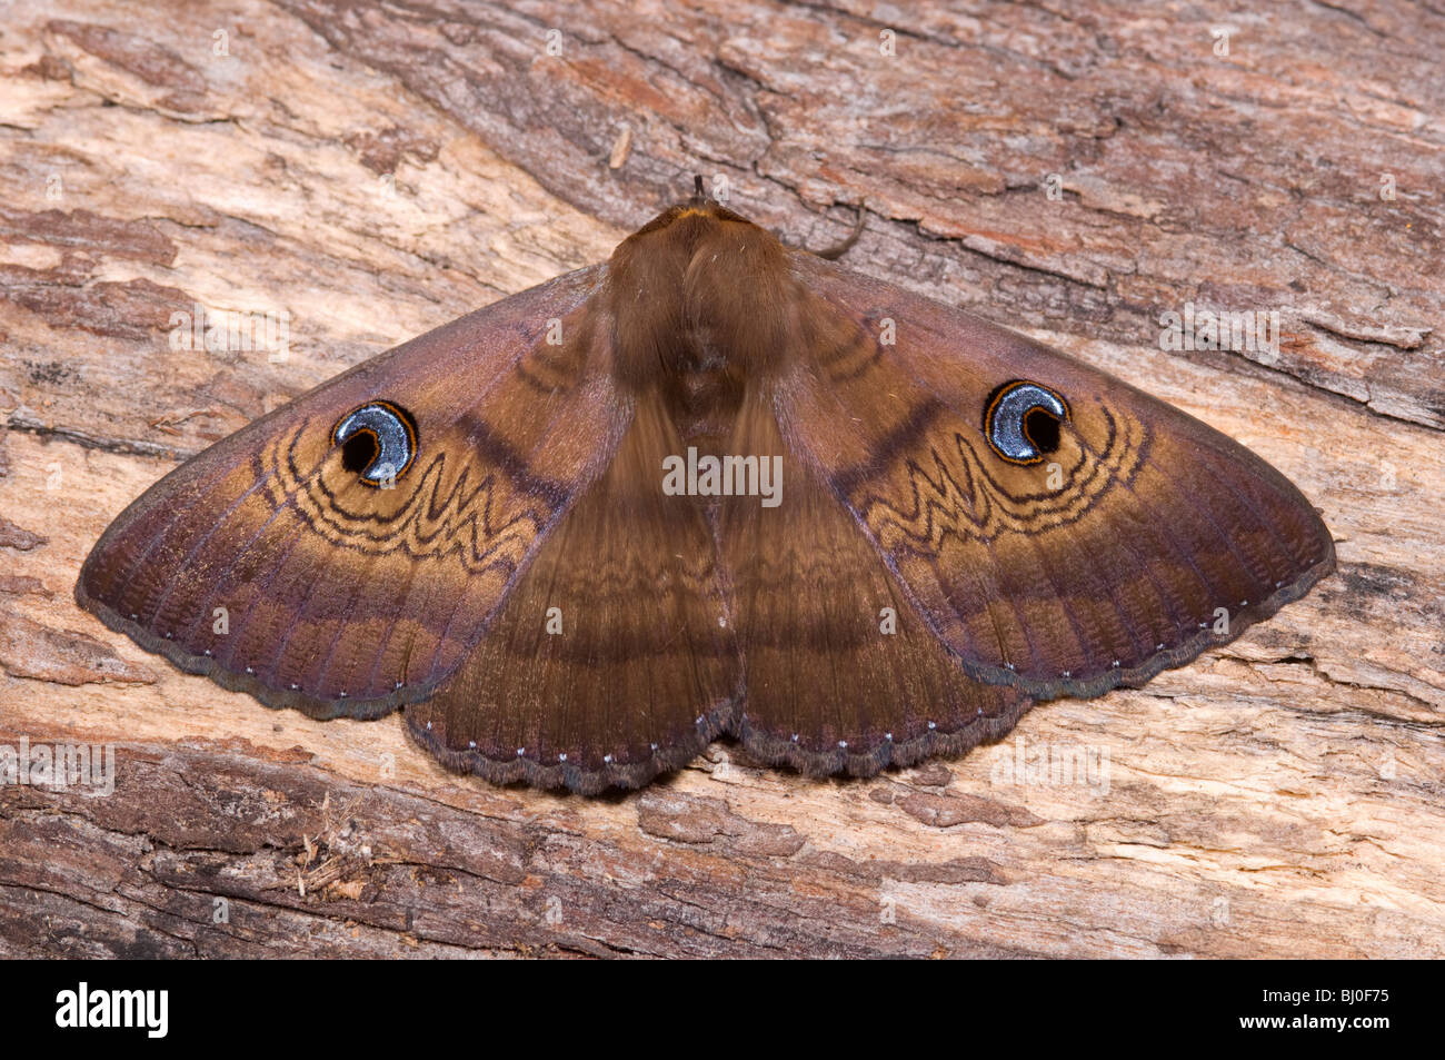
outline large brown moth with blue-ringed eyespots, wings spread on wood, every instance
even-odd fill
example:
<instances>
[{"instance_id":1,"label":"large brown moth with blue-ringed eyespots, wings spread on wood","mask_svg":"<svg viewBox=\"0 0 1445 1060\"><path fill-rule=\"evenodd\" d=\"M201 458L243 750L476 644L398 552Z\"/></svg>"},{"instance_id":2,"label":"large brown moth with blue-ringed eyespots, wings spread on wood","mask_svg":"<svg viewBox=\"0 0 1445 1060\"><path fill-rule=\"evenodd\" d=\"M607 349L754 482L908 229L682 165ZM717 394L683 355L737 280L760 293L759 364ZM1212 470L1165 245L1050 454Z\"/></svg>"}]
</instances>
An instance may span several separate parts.
<instances>
[{"instance_id":1,"label":"large brown moth with blue-ringed eyespots, wings spread on wood","mask_svg":"<svg viewBox=\"0 0 1445 1060\"><path fill-rule=\"evenodd\" d=\"M75 597L270 707L402 709L451 769L592 794L720 735L812 775L959 755L1332 568L1218 431L699 179L165 476Z\"/></svg>"}]
</instances>

